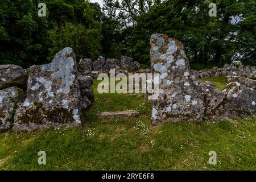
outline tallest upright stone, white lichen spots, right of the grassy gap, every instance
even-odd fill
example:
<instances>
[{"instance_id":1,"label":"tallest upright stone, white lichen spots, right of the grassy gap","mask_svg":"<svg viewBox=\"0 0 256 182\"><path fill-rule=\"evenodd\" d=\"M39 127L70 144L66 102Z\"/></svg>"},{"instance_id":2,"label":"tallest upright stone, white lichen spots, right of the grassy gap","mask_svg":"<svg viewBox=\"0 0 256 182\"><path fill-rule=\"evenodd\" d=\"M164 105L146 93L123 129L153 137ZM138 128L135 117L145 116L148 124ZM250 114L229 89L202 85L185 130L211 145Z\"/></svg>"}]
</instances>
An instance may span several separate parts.
<instances>
[{"instance_id":1,"label":"tallest upright stone, white lichen spots, right of the grassy gap","mask_svg":"<svg viewBox=\"0 0 256 182\"><path fill-rule=\"evenodd\" d=\"M159 97L152 101L152 123L202 121L202 88L192 77L183 44L167 35L151 36L151 70L159 73Z\"/></svg>"}]
</instances>

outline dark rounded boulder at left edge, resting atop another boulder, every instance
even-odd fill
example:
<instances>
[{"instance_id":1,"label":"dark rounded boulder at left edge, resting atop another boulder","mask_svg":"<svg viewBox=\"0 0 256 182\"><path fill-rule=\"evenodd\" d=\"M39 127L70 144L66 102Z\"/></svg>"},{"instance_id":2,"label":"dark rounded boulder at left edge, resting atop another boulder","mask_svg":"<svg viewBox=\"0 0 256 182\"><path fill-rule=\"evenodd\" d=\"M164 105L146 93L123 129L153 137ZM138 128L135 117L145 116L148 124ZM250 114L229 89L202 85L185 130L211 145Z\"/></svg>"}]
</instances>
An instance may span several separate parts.
<instances>
[{"instance_id":1,"label":"dark rounded boulder at left edge, resting atop another boulder","mask_svg":"<svg viewBox=\"0 0 256 182\"><path fill-rule=\"evenodd\" d=\"M18 86L26 88L27 71L18 65L5 64L0 65L0 89Z\"/></svg>"}]
</instances>

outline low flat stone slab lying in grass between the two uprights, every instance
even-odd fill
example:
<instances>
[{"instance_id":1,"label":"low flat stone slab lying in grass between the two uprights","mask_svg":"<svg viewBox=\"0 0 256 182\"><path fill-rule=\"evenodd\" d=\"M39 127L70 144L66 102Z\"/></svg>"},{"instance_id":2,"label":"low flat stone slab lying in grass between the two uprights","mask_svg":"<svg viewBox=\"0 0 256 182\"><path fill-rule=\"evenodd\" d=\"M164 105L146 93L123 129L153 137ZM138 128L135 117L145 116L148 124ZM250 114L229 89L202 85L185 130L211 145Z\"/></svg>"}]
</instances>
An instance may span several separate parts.
<instances>
[{"instance_id":1,"label":"low flat stone slab lying in grass between the two uprights","mask_svg":"<svg viewBox=\"0 0 256 182\"><path fill-rule=\"evenodd\" d=\"M98 113L97 117L99 119L119 119L119 118L135 118L135 117L138 117L138 115L139 115L138 111L126 110L126 111Z\"/></svg>"}]
</instances>

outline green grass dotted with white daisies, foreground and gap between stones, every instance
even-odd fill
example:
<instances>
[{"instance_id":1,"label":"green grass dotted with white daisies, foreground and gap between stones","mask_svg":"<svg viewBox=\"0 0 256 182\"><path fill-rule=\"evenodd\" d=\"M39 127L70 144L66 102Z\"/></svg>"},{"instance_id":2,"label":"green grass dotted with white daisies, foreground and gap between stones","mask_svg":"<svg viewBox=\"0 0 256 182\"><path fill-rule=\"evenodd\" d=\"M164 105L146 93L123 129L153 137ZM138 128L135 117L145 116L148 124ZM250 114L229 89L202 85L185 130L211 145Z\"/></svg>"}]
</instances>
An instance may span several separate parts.
<instances>
[{"instance_id":1,"label":"green grass dotted with white daisies, foreground and gap between stones","mask_svg":"<svg viewBox=\"0 0 256 182\"><path fill-rule=\"evenodd\" d=\"M0 169L256 169L255 119L151 126L151 105L143 95L98 94L97 84L83 128L0 134ZM139 118L96 118L100 111L130 109L139 110ZM46 151L45 166L38 165L39 151ZM217 152L216 166L207 163L209 151Z\"/></svg>"}]
</instances>

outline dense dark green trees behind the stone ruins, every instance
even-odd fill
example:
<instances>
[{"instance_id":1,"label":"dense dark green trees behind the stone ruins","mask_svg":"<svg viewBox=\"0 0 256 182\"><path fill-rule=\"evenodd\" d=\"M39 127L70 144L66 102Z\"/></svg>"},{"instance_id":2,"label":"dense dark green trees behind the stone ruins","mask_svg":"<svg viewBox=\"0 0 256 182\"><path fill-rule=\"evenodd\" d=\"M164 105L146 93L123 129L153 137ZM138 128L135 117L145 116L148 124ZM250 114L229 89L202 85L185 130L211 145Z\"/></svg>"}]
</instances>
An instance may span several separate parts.
<instances>
[{"instance_id":1,"label":"dense dark green trees behind the stone ruins","mask_svg":"<svg viewBox=\"0 0 256 182\"><path fill-rule=\"evenodd\" d=\"M47 16L38 16L46 3ZM205 0L0 0L0 61L28 67L51 61L72 47L77 58L131 56L150 64L151 34L180 40L192 64L222 66L241 60L256 64L254 0L216 0L210 17Z\"/></svg>"}]
</instances>

